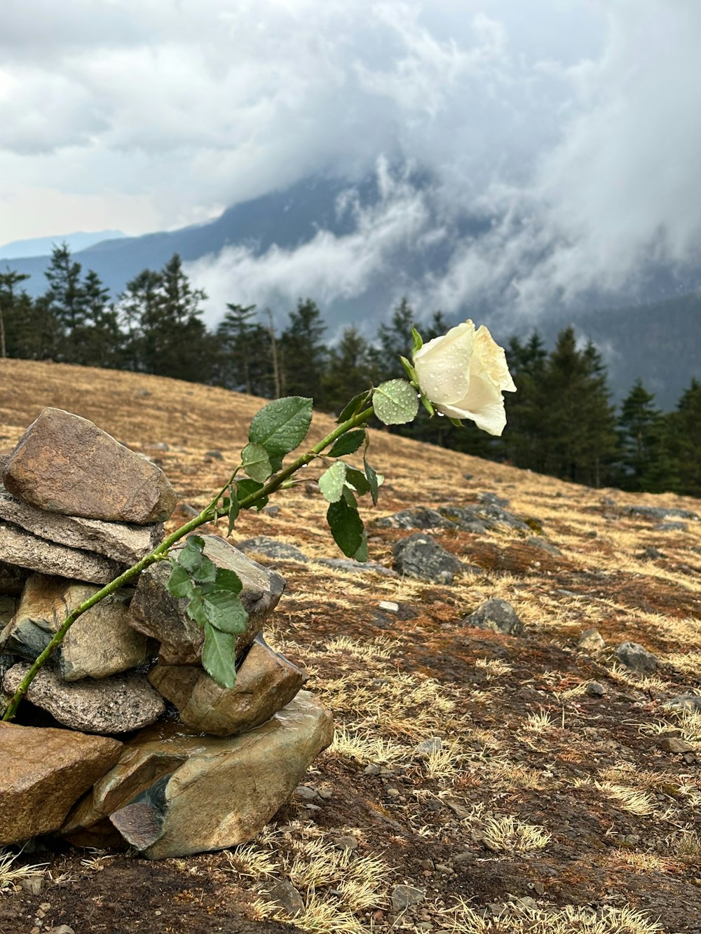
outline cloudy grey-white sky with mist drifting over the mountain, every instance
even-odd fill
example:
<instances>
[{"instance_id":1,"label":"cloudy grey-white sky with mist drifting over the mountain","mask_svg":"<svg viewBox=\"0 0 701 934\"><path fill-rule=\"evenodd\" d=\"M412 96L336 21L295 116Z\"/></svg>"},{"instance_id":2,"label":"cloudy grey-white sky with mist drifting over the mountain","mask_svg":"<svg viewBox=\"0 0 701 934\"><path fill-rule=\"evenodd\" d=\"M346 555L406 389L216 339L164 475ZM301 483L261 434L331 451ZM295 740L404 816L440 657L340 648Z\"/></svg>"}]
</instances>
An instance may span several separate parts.
<instances>
[{"instance_id":1,"label":"cloudy grey-white sky with mist drifting over the mountain","mask_svg":"<svg viewBox=\"0 0 701 934\"><path fill-rule=\"evenodd\" d=\"M699 0L3 0L0 244L372 170L386 196L355 238L230 250L203 282L352 294L460 207L499 220L424 278L434 306L615 290L651 253L697 260L699 49Z\"/></svg>"}]
</instances>

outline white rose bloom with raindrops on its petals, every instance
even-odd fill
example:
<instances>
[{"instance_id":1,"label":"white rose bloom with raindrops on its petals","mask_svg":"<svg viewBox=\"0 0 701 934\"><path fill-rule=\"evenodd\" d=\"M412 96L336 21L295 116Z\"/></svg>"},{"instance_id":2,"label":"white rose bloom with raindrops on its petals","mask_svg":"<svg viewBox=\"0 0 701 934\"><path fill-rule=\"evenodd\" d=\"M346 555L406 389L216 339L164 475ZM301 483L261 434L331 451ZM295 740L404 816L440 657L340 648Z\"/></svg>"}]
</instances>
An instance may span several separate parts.
<instances>
[{"instance_id":1,"label":"white rose bloom with raindrops on its petals","mask_svg":"<svg viewBox=\"0 0 701 934\"><path fill-rule=\"evenodd\" d=\"M503 391L515 392L504 348L482 325L458 324L414 354L419 388L434 408L451 418L471 418L478 428L501 434L507 424Z\"/></svg>"}]
</instances>

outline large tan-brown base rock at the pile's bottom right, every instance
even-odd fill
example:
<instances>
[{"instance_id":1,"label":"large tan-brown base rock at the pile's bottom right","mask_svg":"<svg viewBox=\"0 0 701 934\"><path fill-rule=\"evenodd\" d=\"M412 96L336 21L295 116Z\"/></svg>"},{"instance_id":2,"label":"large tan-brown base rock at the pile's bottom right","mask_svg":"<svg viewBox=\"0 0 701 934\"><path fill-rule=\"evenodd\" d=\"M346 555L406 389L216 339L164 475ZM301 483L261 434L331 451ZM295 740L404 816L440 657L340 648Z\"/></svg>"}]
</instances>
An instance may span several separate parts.
<instances>
[{"instance_id":1,"label":"large tan-brown base rock at the pile's bottom right","mask_svg":"<svg viewBox=\"0 0 701 934\"><path fill-rule=\"evenodd\" d=\"M161 721L126 745L65 830L97 827L111 812L124 839L151 859L236 846L265 826L333 736L331 715L307 691L228 739Z\"/></svg>"}]
</instances>

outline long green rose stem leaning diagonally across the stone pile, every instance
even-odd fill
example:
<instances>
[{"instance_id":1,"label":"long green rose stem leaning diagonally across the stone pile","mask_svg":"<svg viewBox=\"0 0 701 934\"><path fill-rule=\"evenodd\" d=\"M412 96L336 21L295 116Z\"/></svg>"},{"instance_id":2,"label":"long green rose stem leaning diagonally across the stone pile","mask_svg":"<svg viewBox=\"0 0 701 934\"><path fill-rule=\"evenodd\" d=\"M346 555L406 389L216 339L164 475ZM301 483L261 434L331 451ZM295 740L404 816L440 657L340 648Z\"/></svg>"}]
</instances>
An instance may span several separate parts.
<instances>
[{"instance_id":1,"label":"long green rose stem leaning diagonally across the stone pile","mask_svg":"<svg viewBox=\"0 0 701 934\"><path fill-rule=\"evenodd\" d=\"M239 505L244 509L253 505L255 502L262 500L265 496L269 496L270 493L274 492L276 489L279 489L285 481L292 476L300 467L304 467L309 463L310 460L319 457L325 447L332 445L336 438L345 432L350 431L350 429L358 428L360 425L363 425L372 415L374 414L374 409L367 408L363 412L359 412L357 415L349 418L347 421L342 422L338 427L329 434L326 435L318 445L312 447L306 454L302 454L296 460L284 470L281 470L279 474L276 474L270 480L267 481L265 486L262 489L259 489L255 493L251 493L250 496L247 496L245 499L241 500ZM179 542L181 538L195 529L198 529L201 525L204 525L206 522L211 521L217 515L217 503L220 501L226 490L234 481L236 473L240 469L240 464L236 467L236 470L231 474L229 479L226 481L222 489L217 493L214 499L211 502L207 503L207 506L202 510L202 512L192 518L189 522L186 522L185 525L180 526L180 528L174 531L172 534L168 535L167 538L161 542L160 545L157 545L150 554L146 555L141 560L137 561L131 568L128 568L124 573L120 574L119 577L116 577L113 581L103 587L101 590L98 590L97 593L94 593L92 597L88 600L80 603L75 610L73 610L68 616L65 617L64 622L61 624L61 627L56 630L53 637L51 638L50 643L46 646L43 652L37 656L32 663L29 671L24 675L21 680L20 686L17 688L15 693L12 695L7 709L3 714L3 721L7 722L12 720L17 714L17 710L20 706L22 698L27 693L29 686L32 684L38 672L44 667L46 662L50 659L56 649L64 641L65 633L71 628L71 626L76 622L79 616L82 616L84 613L87 613L96 603L105 600L106 597L109 597L115 591L119 590L120 587L124 587L125 584L128 584L130 581L133 581L135 577L138 576L142 571L145 571L146 568L150 567L151 564L155 564L156 561L165 558L169 548L172 545L175 545L176 542Z\"/></svg>"}]
</instances>

